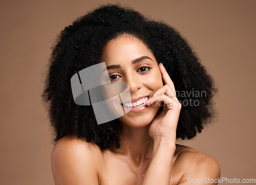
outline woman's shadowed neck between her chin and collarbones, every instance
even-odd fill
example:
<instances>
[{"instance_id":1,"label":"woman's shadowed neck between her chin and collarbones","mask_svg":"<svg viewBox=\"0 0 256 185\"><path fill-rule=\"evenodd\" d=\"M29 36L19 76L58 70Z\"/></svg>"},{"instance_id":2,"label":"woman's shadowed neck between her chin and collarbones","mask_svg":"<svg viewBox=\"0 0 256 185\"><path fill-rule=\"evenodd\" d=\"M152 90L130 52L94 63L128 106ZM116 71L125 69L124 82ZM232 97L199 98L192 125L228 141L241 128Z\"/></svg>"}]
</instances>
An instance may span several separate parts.
<instances>
[{"instance_id":1,"label":"woman's shadowed neck between her chin and collarbones","mask_svg":"<svg viewBox=\"0 0 256 185\"><path fill-rule=\"evenodd\" d=\"M152 157L153 138L148 134L147 125L142 128L133 128L122 124L120 135L120 148L114 146L112 151L131 158L135 164L140 165L144 160Z\"/></svg>"}]
</instances>

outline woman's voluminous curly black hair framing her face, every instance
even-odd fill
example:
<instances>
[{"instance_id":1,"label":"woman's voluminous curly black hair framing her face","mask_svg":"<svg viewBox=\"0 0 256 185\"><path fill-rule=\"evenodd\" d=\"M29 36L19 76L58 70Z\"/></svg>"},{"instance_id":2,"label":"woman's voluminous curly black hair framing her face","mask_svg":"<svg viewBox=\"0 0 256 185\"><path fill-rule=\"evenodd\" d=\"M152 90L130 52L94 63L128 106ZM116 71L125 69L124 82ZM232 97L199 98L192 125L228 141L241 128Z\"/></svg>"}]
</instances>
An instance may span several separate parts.
<instances>
[{"instance_id":1,"label":"woman's voluminous curly black hair framing her face","mask_svg":"<svg viewBox=\"0 0 256 185\"><path fill-rule=\"evenodd\" d=\"M105 44L124 33L142 40L157 61L164 64L181 103L197 102L182 106L177 138L195 137L216 117L213 98L218 89L187 40L163 21L146 18L128 7L108 4L73 21L60 32L52 47L41 98L49 112L54 142L72 134L87 142L93 140L103 150L113 142L119 148L121 128L117 120L98 125L92 106L74 103L70 80L83 68L99 63ZM203 96L184 95L196 91L204 92Z\"/></svg>"}]
</instances>

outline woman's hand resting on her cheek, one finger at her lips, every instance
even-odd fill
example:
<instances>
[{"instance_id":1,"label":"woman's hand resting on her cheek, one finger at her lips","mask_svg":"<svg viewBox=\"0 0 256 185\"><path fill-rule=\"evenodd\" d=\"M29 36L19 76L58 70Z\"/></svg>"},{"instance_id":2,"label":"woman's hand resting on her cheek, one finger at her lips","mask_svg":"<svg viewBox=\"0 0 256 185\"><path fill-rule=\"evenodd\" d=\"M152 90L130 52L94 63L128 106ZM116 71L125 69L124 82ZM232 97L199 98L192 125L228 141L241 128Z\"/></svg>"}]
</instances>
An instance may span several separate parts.
<instances>
[{"instance_id":1,"label":"woman's hand resting on her cheek, one finger at her lips","mask_svg":"<svg viewBox=\"0 0 256 185\"><path fill-rule=\"evenodd\" d=\"M145 104L150 106L157 102L163 102L163 105L151 122L148 132L154 141L166 139L175 142L181 104L175 96L174 83L162 63L159 64L159 68L165 85L156 90Z\"/></svg>"}]
</instances>

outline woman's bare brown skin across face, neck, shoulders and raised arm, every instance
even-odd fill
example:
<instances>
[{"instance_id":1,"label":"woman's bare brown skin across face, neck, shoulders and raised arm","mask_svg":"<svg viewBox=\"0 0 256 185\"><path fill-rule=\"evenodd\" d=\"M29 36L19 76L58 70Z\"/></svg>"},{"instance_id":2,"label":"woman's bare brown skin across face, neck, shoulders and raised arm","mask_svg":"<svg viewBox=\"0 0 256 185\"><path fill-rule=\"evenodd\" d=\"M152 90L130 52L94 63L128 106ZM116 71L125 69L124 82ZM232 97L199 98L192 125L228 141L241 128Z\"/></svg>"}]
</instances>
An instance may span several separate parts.
<instances>
[{"instance_id":1,"label":"woman's bare brown skin across face, neck, shoulders and raised arm","mask_svg":"<svg viewBox=\"0 0 256 185\"><path fill-rule=\"evenodd\" d=\"M132 63L142 56L151 59ZM181 105L177 97L172 97L174 84L139 39L125 34L111 40L101 62L106 66L120 65L108 72L110 76L117 75L112 77L113 82L129 84L132 99L152 95L146 104L158 104L118 119L123 126L119 149L113 144L110 149L101 150L93 142L71 135L61 138L52 151L56 184L191 184L188 177L220 177L219 165L213 158L175 144Z\"/></svg>"}]
</instances>

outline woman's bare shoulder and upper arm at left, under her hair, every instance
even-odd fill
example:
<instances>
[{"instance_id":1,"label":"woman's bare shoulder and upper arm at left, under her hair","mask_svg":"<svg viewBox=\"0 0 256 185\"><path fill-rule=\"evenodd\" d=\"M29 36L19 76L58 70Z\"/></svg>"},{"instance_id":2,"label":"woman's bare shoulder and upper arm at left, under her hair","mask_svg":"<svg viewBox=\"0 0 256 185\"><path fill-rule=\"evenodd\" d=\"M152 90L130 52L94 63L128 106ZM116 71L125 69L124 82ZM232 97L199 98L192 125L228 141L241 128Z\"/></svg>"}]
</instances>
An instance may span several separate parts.
<instances>
[{"instance_id":1,"label":"woman's bare shoulder and upper arm at left, under her hair","mask_svg":"<svg viewBox=\"0 0 256 185\"><path fill-rule=\"evenodd\" d=\"M100 149L73 136L62 137L53 147L51 164L55 184L98 184Z\"/></svg>"}]
</instances>

